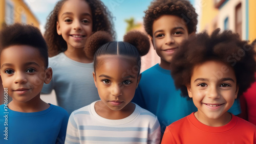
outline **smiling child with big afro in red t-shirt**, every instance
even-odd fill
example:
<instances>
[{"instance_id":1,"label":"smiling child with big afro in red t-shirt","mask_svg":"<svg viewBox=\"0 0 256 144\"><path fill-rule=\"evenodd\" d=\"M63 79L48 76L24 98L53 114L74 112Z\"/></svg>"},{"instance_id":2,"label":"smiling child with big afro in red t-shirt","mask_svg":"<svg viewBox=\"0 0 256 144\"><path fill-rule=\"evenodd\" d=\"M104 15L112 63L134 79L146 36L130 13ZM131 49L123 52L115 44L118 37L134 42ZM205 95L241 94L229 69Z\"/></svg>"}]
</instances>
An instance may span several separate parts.
<instances>
[{"instance_id":1,"label":"smiling child with big afro in red t-shirt","mask_svg":"<svg viewBox=\"0 0 256 144\"><path fill-rule=\"evenodd\" d=\"M198 110L169 125L162 143L255 143L256 126L227 112L255 81L254 55L231 31L216 29L185 41L170 70L176 88Z\"/></svg>"}]
</instances>

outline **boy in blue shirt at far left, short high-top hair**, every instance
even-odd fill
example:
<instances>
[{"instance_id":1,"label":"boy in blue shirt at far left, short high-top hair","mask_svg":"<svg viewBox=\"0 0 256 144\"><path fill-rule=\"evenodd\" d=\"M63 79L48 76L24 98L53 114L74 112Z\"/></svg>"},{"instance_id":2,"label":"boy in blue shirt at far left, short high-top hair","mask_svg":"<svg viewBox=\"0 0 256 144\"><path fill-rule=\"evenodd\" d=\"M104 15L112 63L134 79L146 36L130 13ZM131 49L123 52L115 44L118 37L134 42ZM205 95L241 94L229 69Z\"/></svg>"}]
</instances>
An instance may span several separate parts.
<instances>
[{"instance_id":1,"label":"boy in blue shirt at far left, short high-top hair","mask_svg":"<svg viewBox=\"0 0 256 144\"><path fill-rule=\"evenodd\" d=\"M42 86L52 79L47 44L40 31L18 23L3 28L0 66L5 91L0 143L64 143L67 111L40 99Z\"/></svg>"}]
</instances>

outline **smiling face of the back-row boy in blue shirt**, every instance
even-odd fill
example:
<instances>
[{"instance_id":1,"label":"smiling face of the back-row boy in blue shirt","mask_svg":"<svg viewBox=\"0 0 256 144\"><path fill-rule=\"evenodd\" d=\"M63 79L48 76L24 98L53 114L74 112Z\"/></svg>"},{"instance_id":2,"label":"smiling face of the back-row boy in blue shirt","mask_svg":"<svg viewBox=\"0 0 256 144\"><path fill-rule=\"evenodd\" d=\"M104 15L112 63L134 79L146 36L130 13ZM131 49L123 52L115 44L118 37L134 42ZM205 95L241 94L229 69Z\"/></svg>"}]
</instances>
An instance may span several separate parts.
<instances>
[{"instance_id":1,"label":"smiling face of the back-row boy in blue shirt","mask_svg":"<svg viewBox=\"0 0 256 144\"><path fill-rule=\"evenodd\" d=\"M153 45L161 58L160 66L169 69L174 52L181 42L188 38L188 30L182 18L162 15L153 23Z\"/></svg>"}]
</instances>

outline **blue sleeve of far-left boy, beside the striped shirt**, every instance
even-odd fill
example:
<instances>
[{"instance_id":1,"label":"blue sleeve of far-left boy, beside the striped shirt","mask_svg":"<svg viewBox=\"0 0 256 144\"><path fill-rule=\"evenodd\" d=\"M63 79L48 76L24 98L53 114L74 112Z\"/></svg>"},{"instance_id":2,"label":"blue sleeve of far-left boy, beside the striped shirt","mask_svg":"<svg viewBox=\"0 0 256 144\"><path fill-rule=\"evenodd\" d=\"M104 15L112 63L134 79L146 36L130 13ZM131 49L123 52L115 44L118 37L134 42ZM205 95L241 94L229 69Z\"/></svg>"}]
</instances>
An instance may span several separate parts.
<instances>
[{"instance_id":1,"label":"blue sleeve of far-left boy, beside the striped shirt","mask_svg":"<svg viewBox=\"0 0 256 144\"><path fill-rule=\"evenodd\" d=\"M59 135L57 138L56 143L64 143L65 142L65 137L66 137L66 132L67 132L67 125L69 121L69 114L66 110L63 109L63 116L62 116L62 123L61 123L61 128L59 131Z\"/></svg>"}]
</instances>

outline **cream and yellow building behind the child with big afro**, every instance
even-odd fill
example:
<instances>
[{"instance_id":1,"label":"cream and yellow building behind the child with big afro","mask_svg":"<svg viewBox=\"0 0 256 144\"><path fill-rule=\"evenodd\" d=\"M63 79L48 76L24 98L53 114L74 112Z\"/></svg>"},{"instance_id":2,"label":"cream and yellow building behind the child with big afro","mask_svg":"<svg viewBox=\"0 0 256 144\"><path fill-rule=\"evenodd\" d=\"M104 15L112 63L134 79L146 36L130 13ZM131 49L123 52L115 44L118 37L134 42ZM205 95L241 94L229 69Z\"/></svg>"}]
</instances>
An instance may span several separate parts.
<instances>
[{"instance_id":1,"label":"cream and yellow building behind the child with big afro","mask_svg":"<svg viewBox=\"0 0 256 144\"><path fill-rule=\"evenodd\" d=\"M198 0L201 4L199 32L211 33L216 28L232 30L250 42L256 38L256 1L254 0Z\"/></svg>"}]
</instances>

